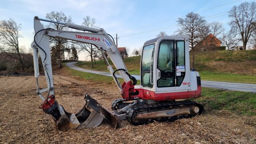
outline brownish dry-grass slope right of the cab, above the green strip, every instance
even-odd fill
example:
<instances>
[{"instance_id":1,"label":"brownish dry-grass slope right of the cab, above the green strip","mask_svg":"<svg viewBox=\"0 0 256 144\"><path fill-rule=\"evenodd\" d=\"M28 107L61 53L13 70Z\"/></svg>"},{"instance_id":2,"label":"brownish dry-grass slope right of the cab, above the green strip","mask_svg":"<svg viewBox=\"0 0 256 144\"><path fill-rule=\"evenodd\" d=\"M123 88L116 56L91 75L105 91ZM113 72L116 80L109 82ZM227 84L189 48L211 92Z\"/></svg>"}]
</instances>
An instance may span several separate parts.
<instances>
[{"instance_id":1,"label":"brownish dry-grass slope right of the cab, above the green strip","mask_svg":"<svg viewBox=\"0 0 256 144\"><path fill-rule=\"evenodd\" d=\"M200 52L195 56L200 71L256 76L256 50Z\"/></svg>"}]
</instances>

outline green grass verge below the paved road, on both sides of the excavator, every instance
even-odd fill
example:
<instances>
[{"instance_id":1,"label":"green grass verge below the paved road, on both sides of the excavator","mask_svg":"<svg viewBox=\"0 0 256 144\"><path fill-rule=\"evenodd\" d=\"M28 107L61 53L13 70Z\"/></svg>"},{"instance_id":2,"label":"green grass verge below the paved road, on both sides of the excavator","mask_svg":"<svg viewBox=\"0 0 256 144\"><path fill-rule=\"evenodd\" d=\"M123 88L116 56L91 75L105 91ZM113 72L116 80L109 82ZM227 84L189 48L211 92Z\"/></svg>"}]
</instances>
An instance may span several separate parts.
<instances>
[{"instance_id":1,"label":"green grass verge below the paved road, on both sides of the excavator","mask_svg":"<svg viewBox=\"0 0 256 144\"><path fill-rule=\"evenodd\" d=\"M78 76L79 78L100 84L115 86L112 77L80 72L68 68L65 64L63 66L64 68L62 70L72 76ZM121 79L119 80L121 83L123 82ZM139 83L140 81L138 81ZM193 100L202 103L206 112L211 112L212 110L228 110L237 115L256 116L255 93L202 88L202 96Z\"/></svg>"}]
</instances>

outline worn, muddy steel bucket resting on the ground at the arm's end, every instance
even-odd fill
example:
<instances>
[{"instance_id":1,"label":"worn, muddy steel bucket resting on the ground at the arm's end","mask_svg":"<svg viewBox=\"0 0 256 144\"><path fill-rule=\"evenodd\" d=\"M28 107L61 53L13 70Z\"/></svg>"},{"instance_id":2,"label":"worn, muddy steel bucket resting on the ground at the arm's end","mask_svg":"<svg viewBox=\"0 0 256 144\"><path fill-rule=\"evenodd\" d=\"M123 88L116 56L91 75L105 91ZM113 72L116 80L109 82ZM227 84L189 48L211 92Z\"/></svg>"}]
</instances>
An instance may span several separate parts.
<instances>
[{"instance_id":1,"label":"worn, muddy steel bucket resting on the ground at the arm's end","mask_svg":"<svg viewBox=\"0 0 256 144\"><path fill-rule=\"evenodd\" d=\"M120 120L112 112L108 111L88 94L84 97L86 101L84 107L77 113L66 112L60 105L60 117L57 120L60 131L73 129L94 128L99 126L106 119L112 128L117 128Z\"/></svg>"}]
</instances>

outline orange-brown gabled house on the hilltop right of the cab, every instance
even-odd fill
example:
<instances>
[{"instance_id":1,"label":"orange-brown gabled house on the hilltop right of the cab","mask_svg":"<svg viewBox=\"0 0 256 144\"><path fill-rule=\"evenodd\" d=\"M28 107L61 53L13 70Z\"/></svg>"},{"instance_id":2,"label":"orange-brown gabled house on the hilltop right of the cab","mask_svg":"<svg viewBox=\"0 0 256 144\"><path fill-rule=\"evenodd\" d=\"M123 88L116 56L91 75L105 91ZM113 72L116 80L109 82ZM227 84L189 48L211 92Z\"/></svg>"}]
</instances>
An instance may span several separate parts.
<instances>
[{"instance_id":1,"label":"orange-brown gabled house on the hilltop right of the cab","mask_svg":"<svg viewBox=\"0 0 256 144\"><path fill-rule=\"evenodd\" d=\"M209 34L198 42L195 48L200 51L225 50L225 48L221 48L221 44L222 42L218 38L216 38L213 34Z\"/></svg>"}]
</instances>

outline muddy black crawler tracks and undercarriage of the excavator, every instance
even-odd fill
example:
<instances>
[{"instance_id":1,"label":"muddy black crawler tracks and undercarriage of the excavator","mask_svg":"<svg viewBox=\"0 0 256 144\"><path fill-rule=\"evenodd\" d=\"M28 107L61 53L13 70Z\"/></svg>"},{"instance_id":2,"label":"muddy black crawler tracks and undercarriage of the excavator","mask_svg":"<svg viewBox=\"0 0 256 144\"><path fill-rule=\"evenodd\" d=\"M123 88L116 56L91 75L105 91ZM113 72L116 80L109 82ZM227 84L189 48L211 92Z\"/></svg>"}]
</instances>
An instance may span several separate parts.
<instances>
[{"instance_id":1,"label":"muddy black crawler tracks and undercarriage of the excavator","mask_svg":"<svg viewBox=\"0 0 256 144\"><path fill-rule=\"evenodd\" d=\"M117 115L120 120L127 119L131 124L137 126L154 121L172 122L178 118L191 118L202 114L204 108L194 101L135 100L128 102L124 99L117 99L112 103L112 110L114 110L112 113Z\"/></svg>"}]
</instances>

